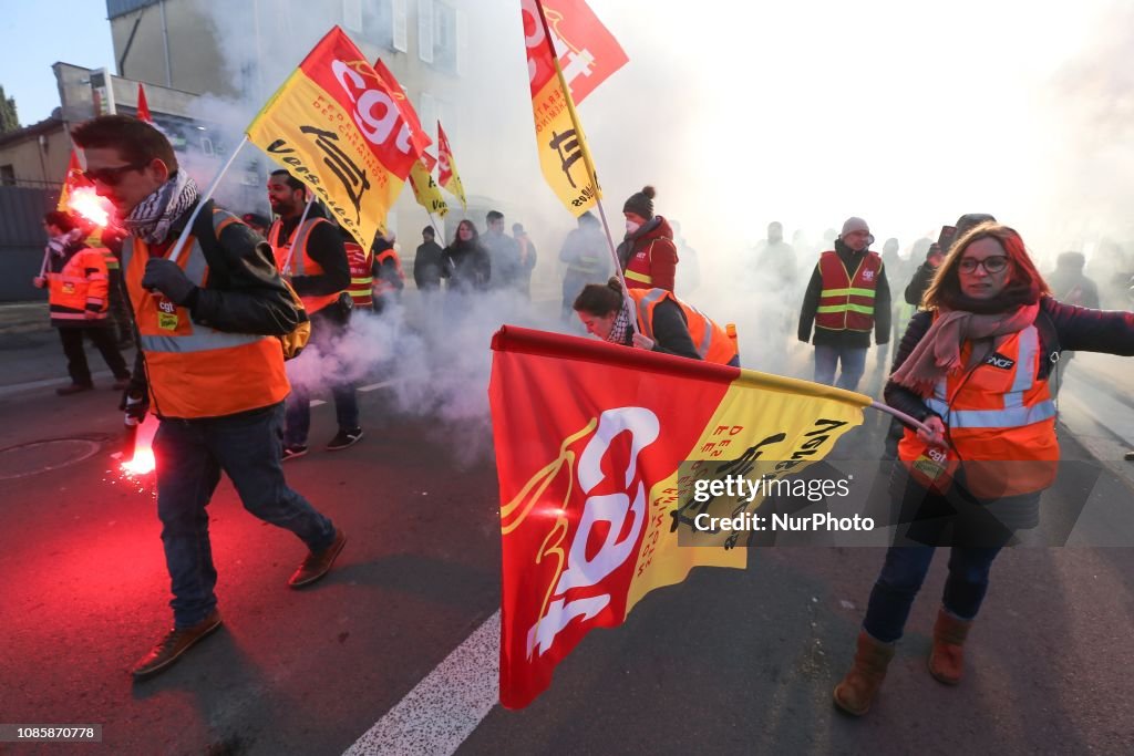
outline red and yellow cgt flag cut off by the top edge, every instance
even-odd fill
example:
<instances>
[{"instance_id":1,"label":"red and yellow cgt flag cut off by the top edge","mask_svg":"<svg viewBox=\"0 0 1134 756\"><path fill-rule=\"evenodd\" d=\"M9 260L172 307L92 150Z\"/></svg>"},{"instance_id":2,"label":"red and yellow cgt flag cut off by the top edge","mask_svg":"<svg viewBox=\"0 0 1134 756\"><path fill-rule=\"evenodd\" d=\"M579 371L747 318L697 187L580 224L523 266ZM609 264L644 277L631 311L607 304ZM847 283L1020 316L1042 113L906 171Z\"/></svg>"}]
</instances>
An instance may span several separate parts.
<instances>
[{"instance_id":1,"label":"red and yellow cgt flag cut off by the top edge","mask_svg":"<svg viewBox=\"0 0 1134 756\"><path fill-rule=\"evenodd\" d=\"M522 0L521 14L540 168L578 216L602 195L575 104L621 68L626 53L584 0Z\"/></svg>"}]
</instances>

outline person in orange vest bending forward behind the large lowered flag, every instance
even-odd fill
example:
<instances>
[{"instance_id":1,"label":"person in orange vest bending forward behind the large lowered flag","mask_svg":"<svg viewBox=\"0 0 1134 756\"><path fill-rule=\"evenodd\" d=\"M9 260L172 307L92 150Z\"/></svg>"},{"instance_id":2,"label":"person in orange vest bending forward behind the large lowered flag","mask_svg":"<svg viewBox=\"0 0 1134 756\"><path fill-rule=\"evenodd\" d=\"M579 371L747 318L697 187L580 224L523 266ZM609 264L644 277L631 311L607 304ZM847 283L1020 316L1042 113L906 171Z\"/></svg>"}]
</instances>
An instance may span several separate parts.
<instances>
[{"instance_id":1,"label":"person in orange vest bending forward behind the large lowered flag","mask_svg":"<svg viewBox=\"0 0 1134 756\"><path fill-rule=\"evenodd\" d=\"M574 309L586 332L610 343L741 366L736 341L729 333L672 291L629 289L628 294L634 303L636 332L617 277L583 287Z\"/></svg>"}]
</instances>

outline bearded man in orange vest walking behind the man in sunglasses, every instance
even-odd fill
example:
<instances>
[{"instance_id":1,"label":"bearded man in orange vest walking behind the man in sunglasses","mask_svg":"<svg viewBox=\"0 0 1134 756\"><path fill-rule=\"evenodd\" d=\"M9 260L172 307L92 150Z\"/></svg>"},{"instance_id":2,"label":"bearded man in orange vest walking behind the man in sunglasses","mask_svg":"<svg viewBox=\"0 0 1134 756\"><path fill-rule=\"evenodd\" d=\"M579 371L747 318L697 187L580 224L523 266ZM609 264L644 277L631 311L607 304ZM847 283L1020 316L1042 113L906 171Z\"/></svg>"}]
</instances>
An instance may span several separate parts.
<instances>
[{"instance_id":1,"label":"bearded man in orange vest walking behind the man in sunglasses","mask_svg":"<svg viewBox=\"0 0 1134 756\"><path fill-rule=\"evenodd\" d=\"M277 269L287 278L303 299L311 320L311 341L316 347L299 359L308 362L319 355L332 354L341 342L350 321L350 265L342 236L323 214L319 203L307 211L307 219L299 227L299 219L307 207L307 189L286 170L272 171L268 178L268 202L279 218L268 229L268 244L276 257ZM310 362L308 362L310 365ZM305 374L319 371L304 371ZM362 439L358 425L358 398L354 381L337 374L319 375L330 384L335 398L335 417L338 433L327 444L329 451L352 447ZM307 453L307 433L311 430L310 381L296 380L287 399L287 424L284 432L284 460Z\"/></svg>"}]
</instances>

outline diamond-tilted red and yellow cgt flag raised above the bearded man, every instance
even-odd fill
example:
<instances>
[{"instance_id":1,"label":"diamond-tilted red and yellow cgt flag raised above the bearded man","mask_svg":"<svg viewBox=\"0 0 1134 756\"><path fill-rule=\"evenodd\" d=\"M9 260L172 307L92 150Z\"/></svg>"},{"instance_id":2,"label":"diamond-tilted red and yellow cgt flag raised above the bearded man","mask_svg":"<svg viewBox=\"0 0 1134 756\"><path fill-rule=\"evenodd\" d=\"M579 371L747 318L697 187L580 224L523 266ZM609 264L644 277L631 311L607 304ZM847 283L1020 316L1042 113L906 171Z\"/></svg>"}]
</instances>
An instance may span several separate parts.
<instances>
[{"instance_id":1,"label":"diamond-tilted red and yellow cgt flag raised above the bearded man","mask_svg":"<svg viewBox=\"0 0 1134 756\"><path fill-rule=\"evenodd\" d=\"M248 138L369 248L421 156L400 94L336 26L248 125Z\"/></svg>"}]
</instances>

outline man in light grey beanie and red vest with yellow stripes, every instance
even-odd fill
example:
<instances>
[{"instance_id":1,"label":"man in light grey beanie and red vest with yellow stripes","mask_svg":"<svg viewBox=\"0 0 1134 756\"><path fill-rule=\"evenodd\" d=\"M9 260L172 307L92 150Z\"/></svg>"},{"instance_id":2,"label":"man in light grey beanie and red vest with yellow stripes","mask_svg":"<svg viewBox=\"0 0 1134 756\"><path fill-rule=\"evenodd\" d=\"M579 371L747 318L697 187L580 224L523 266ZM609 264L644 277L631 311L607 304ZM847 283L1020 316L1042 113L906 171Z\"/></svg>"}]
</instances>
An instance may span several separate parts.
<instances>
[{"instance_id":1,"label":"man in light grey beanie and red vest with yellow stripes","mask_svg":"<svg viewBox=\"0 0 1134 756\"><path fill-rule=\"evenodd\" d=\"M799 309L799 341L815 328L815 383L855 391L866 369L870 334L890 340L890 286L874 237L861 218L848 218L835 249L822 253ZM838 382L836 371L841 366Z\"/></svg>"}]
</instances>

